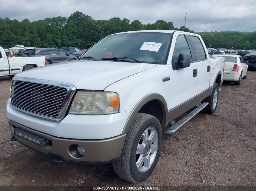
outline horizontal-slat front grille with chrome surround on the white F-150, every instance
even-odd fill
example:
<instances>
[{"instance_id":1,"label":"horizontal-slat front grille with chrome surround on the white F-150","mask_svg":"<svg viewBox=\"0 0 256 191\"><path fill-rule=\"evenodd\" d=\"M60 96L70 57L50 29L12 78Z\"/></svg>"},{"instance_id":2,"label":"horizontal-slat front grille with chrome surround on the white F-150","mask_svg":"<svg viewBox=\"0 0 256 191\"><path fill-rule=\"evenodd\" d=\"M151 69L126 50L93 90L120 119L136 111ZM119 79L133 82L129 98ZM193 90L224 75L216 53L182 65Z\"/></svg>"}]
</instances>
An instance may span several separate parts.
<instances>
[{"instance_id":1,"label":"horizontal-slat front grille with chrome surround on the white F-150","mask_svg":"<svg viewBox=\"0 0 256 191\"><path fill-rule=\"evenodd\" d=\"M33 115L62 119L75 89L71 85L72 90L70 91L69 86L65 84L64 87L61 87L49 83L13 80L10 91L11 104L13 107Z\"/></svg>"}]
</instances>

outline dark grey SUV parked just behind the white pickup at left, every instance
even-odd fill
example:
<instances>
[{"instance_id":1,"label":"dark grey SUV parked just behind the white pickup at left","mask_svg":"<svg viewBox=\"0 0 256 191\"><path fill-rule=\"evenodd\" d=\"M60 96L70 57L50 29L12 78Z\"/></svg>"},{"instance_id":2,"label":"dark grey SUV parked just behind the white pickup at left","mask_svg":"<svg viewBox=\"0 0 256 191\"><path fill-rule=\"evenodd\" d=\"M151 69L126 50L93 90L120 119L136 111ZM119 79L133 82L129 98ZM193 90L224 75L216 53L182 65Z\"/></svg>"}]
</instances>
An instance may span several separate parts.
<instances>
[{"instance_id":1,"label":"dark grey SUV parked just behind the white pickup at left","mask_svg":"<svg viewBox=\"0 0 256 191\"><path fill-rule=\"evenodd\" d=\"M28 56L45 56L47 64L54 64L57 62L77 60L77 57L73 54L70 54L62 49L56 48L35 48L27 49L25 54Z\"/></svg>"}]
</instances>

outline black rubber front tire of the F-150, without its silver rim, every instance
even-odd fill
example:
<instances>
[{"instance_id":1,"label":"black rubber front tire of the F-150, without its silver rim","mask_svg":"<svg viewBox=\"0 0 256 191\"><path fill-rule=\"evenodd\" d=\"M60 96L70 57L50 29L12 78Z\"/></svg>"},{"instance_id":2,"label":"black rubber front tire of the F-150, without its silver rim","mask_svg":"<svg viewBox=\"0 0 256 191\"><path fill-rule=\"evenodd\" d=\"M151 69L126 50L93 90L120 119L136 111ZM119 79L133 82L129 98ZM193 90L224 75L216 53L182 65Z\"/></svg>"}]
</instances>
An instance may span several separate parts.
<instances>
[{"instance_id":1,"label":"black rubber front tire of the F-150, without its silver rim","mask_svg":"<svg viewBox=\"0 0 256 191\"><path fill-rule=\"evenodd\" d=\"M155 158L151 166L148 167L148 170L146 170L145 172L140 172L136 166L136 160L137 160L136 157L138 157L138 155L140 156L140 154L136 154L136 151L137 151L138 144L140 143L140 141L142 141L142 134L145 133L149 127L153 127L158 134L157 136L158 147L156 149ZM150 137L150 134L148 137ZM157 164L157 161L160 155L161 146L162 146L162 129L158 119L149 114L138 113L135 119L133 120L133 123L126 135L121 157L117 161L114 161L112 163L115 173L120 178L132 183L139 183L147 179L155 169L155 166ZM145 147L143 149L143 154L144 154L144 150L145 150ZM149 152L147 156L150 157L151 146L149 147L149 150L147 149L147 151ZM143 163L141 162L141 164L145 165L144 162Z\"/></svg>"}]
</instances>

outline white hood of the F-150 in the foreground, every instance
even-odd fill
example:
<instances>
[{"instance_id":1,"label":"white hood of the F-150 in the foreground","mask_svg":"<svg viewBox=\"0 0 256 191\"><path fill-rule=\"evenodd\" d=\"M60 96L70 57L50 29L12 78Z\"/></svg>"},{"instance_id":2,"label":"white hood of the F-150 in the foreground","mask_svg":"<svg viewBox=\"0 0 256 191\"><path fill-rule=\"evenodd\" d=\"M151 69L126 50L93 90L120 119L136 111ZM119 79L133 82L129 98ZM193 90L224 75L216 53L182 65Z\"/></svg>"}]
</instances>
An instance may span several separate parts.
<instances>
[{"instance_id":1,"label":"white hood of the F-150 in the foreground","mask_svg":"<svg viewBox=\"0 0 256 191\"><path fill-rule=\"evenodd\" d=\"M72 84L77 89L104 90L116 81L154 66L155 64L77 60L33 68L16 76Z\"/></svg>"}]
</instances>

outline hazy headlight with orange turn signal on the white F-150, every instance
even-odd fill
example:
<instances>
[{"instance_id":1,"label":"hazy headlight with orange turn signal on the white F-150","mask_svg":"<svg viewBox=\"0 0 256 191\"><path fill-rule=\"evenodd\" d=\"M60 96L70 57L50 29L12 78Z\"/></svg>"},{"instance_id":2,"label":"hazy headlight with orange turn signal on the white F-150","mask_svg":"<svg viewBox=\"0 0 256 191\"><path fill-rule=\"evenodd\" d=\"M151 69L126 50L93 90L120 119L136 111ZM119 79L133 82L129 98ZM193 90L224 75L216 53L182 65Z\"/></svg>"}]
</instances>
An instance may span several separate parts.
<instances>
[{"instance_id":1,"label":"hazy headlight with orange turn signal on the white F-150","mask_svg":"<svg viewBox=\"0 0 256 191\"><path fill-rule=\"evenodd\" d=\"M69 109L70 114L104 115L118 113L119 96L113 92L78 91Z\"/></svg>"}]
</instances>

